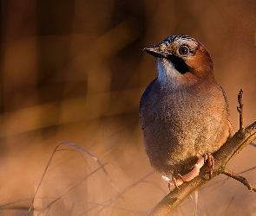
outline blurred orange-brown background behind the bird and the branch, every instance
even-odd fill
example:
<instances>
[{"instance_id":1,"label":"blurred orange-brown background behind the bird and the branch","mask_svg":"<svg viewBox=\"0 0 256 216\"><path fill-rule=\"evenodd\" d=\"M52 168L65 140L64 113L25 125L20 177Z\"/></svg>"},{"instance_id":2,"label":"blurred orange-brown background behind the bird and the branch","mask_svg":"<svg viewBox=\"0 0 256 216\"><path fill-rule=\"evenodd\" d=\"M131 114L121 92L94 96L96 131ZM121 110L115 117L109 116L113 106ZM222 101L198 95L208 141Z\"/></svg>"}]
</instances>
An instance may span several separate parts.
<instances>
[{"instance_id":1,"label":"blurred orange-brown background behind the bird and the branch","mask_svg":"<svg viewBox=\"0 0 256 216\"><path fill-rule=\"evenodd\" d=\"M112 162L115 175L113 168L109 175L122 198L99 210L104 199L116 195L106 189L111 188L107 176L99 174L72 196L65 194L59 206L48 207L51 215L148 213L168 189L156 173L143 179L153 169L143 149L138 107L141 93L157 76L154 58L143 48L176 34L201 41L212 54L215 77L238 129L240 88L246 124L256 118L255 21L253 0L2 1L0 214L27 213L49 157L62 142ZM85 161L95 163L90 157L73 161L72 152L67 154L60 153L53 163L39 200L56 196L49 194L61 179L69 186L79 181L77 170ZM255 148L246 147L228 168L253 168L255 154ZM256 184L255 172L243 175ZM200 190L198 215L256 215L255 194L238 182L221 180L226 177ZM193 201L186 200L174 215L194 215Z\"/></svg>"}]
</instances>

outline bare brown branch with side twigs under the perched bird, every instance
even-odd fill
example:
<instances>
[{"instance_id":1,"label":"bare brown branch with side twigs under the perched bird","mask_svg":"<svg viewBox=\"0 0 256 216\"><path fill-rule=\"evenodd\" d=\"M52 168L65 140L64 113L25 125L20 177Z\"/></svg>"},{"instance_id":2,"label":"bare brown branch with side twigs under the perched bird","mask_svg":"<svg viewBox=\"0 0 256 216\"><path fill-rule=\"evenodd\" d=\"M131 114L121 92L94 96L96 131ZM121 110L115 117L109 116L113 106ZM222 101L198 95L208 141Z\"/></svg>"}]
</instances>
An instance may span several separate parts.
<instances>
[{"instance_id":1,"label":"bare brown branch with side twigs under the perched bird","mask_svg":"<svg viewBox=\"0 0 256 216\"><path fill-rule=\"evenodd\" d=\"M215 168L213 170L212 178L224 173L227 175L226 163L240 153L240 151L245 148L249 143L251 143L254 139L256 139L256 121L252 124L248 125L246 128L243 126L243 104L242 104L242 91L240 90L240 94L238 95L238 111L240 113L240 130L238 130L234 136L226 141L221 148L213 154ZM205 164L200 169L200 175L195 177L192 181L183 183L179 188L174 188L167 196L165 196L150 213L152 216L156 215L168 215L172 213L174 209L181 204L181 202L187 197L194 193L194 191L198 190L204 184L206 184L209 179L209 175L207 174L208 166ZM229 175L229 174L228 174ZM243 177L238 177L239 175L229 175L230 177L235 178L236 180L242 179ZM253 185L246 183L243 181L249 189L252 188L254 191Z\"/></svg>"}]
</instances>

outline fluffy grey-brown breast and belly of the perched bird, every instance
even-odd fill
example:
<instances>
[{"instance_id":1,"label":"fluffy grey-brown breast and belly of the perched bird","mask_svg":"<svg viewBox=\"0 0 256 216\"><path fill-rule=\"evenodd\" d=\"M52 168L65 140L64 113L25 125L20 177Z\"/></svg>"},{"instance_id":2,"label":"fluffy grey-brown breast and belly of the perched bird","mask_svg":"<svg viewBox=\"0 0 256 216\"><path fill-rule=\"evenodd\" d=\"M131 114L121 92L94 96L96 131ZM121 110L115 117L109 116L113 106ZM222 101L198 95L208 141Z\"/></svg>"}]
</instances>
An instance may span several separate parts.
<instances>
[{"instance_id":1,"label":"fluffy grey-brown breast and belly of the perched bird","mask_svg":"<svg viewBox=\"0 0 256 216\"><path fill-rule=\"evenodd\" d=\"M148 96L140 113L144 143L161 173L181 173L197 155L219 149L225 130L228 136L226 101L219 88L204 93L161 90Z\"/></svg>"}]
</instances>

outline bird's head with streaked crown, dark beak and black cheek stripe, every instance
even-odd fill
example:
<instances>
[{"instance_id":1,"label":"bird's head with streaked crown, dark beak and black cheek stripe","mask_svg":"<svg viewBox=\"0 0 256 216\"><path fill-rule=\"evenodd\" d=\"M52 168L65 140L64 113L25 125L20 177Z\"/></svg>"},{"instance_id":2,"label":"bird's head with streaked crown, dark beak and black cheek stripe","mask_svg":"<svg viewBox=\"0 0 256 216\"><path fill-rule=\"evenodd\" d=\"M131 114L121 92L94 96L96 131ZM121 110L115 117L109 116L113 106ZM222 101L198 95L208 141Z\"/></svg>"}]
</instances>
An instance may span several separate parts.
<instances>
[{"instance_id":1,"label":"bird's head with streaked crown, dark beak and black cheek stripe","mask_svg":"<svg viewBox=\"0 0 256 216\"><path fill-rule=\"evenodd\" d=\"M161 84L194 86L201 79L214 81L213 60L199 41L187 35L172 35L144 48L156 57Z\"/></svg>"}]
</instances>

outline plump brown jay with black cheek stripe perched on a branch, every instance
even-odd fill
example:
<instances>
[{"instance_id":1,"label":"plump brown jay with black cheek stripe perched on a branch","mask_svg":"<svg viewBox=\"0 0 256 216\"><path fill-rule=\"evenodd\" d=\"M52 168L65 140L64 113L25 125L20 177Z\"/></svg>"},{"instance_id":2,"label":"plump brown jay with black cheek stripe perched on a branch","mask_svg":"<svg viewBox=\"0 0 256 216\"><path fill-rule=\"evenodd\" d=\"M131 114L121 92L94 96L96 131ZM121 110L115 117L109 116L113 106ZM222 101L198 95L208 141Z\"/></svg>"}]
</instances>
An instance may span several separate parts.
<instances>
[{"instance_id":1,"label":"plump brown jay with black cheek stripe perched on a branch","mask_svg":"<svg viewBox=\"0 0 256 216\"><path fill-rule=\"evenodd\" d=\"M226 94L200 41L171 35L144 50L158 71L140 101L144 145L152 167L178 187L199 175L207 158L212 173L212 153L232 136Z\"/></svg>"}]
</instances>

